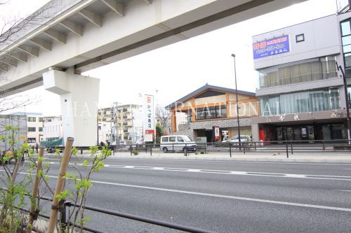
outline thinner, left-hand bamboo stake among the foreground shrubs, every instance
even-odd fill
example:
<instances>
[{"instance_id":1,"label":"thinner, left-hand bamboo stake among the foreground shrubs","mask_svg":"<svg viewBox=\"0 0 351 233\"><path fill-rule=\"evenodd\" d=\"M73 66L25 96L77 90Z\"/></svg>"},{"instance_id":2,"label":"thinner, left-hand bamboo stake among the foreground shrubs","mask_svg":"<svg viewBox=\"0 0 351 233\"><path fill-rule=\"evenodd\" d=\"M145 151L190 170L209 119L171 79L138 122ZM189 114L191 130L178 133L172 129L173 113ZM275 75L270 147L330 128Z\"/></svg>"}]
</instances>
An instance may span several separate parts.
<instances>
[{"instance_id":1,"label":"thinner, left-hand bamboo stake among the foreground shrubs","mask_svg":"<svg viewBox=\"0 0 351 233\"><path fill-rule=\"evenodd\" d=\"M43 156L44 156L44 146L41 146L39 150L39 157L43 157ZM35 200L38 197L38 188L39 188L39 181L40 181L39 171L41 171L41 164L42 164L42 160L38 159L37 174L35 176L34 188L33 188L33 194L32 194L32 205L30 206L30 211L29 211L27 233L32 232L33 222L35 219L37 219L37 216L35 213L35 211L37 210Z\"/></svg>"}]
</instances>

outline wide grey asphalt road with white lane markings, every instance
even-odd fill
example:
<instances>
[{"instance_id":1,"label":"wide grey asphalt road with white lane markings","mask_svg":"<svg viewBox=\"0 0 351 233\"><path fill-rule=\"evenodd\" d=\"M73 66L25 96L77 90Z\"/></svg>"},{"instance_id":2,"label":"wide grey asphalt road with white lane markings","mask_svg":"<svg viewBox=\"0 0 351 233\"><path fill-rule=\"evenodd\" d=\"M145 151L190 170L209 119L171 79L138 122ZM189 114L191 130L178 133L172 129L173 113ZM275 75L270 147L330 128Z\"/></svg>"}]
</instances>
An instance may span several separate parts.
<instances>
[{"instance_id":1,"label":"wide grey asphalt road with white lane markings","mask_svg":"<svg viewBox=\"0 0 351 233\"><path fill-rule=\"evenodd\" d=\"M52 162L51 183L58 174ZM108 159L88 205L211 232L351 232L351 164ZM54 186L54 185L53 185ZM88 213L104 232L177 232Z\"/></svg>"}]
</instances>

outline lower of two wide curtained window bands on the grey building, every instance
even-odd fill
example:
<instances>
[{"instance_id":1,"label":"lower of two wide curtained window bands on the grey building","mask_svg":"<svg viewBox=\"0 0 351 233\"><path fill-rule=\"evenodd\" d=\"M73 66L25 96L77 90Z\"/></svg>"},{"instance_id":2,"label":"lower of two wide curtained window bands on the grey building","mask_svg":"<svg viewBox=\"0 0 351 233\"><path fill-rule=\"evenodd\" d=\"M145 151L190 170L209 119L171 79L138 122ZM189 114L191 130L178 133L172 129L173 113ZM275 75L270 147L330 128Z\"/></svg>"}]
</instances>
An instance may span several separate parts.
<instances>
[{"instance_id":1,"label":"lower of two wide curtained window bands on the grey building","mask_svg":"<svg viewBox=\"0 0 351 233\"><path fill-rule=\"evenodd\" d=\"M340 109L338 88L259 97L261 115L308 113Z\"/></svg>"}]
</instances>

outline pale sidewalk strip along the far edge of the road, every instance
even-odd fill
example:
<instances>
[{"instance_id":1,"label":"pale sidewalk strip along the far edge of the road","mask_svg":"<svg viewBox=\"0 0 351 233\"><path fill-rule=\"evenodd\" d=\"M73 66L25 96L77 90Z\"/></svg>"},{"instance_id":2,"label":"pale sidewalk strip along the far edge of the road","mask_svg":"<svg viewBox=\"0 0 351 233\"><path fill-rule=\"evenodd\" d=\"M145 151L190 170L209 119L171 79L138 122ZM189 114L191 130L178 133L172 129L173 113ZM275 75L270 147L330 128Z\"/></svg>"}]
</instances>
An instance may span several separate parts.
<instances>
[{"instance_id":1,"label":"pale sidewalk strip along the far edge of the road","mask_svg":"<svg viewBox=\"0 0 351 233\"><path fill-rule=\"evenodd\" d=\"M128 152L116 152L112 158L129 158L129 159L163 159L163 160L230 160L230 161L248 161L248 162L312 162L312 163L344 163L351 164L350 151L336 152L311 152L311 153L289 153L289 158L286 153L244 153L234 152L232 157L229 153L208 153L198 154L189 153L185 156L184 153L163 153L140 152L138 155L131 155Z\"/></svg>"}]
</instances>

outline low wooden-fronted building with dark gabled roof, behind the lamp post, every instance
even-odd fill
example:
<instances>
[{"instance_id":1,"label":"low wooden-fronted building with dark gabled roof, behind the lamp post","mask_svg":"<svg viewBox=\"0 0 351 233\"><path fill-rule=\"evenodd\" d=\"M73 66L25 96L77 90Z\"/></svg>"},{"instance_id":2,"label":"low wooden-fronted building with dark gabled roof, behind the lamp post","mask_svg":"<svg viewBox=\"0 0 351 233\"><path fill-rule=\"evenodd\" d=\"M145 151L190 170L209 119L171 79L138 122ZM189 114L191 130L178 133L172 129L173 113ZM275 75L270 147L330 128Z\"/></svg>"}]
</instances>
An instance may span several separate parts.
<instances>
[{"instance_id":1,"label":"low wooden-fronted building with dark gabled roof, behind the lamp post","mask_svg":"<svg viewBox=\"0 0 351 233\"><path fill-rule=\"evenodd\" d=\"M237 93L240 133L251 136L251 117L258 115L258 100L253 92L238 90ZM233 89L206 84L166 108L171 110L172 134L184 134L194 140L202 138L206 142L238 134L237 99Z\"/></svg>"}]
</instances>

